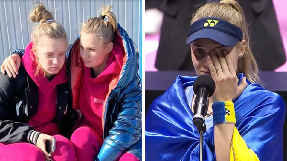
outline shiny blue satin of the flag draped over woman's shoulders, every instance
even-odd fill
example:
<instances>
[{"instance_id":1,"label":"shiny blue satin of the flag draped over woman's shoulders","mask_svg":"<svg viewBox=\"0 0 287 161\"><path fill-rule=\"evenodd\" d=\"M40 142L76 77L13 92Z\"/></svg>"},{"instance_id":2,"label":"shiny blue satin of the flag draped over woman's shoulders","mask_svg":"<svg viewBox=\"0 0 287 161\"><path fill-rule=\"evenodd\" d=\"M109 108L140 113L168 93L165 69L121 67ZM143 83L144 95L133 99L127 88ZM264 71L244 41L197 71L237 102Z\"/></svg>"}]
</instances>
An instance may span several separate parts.
<instances>
[{"instance_id":1,"label":"shiny blue satin of the flag draped over woman's shoulders","mask_svg":"<svg viewBox=\"0 0 287 161\"><path fill-rule=\"evenodd\" d=\"M238 75L239 83L244 75ZM197 77L178 76L172 86L155 99L146 116L146 160L198 161L199 133L184 89ZM233 101L236 128L260 161L283 160L285 103L280 95L246 80L248 86ZM215 161L214 127L204 133L204 161ZM237 147L238 148L238 147ZM240 154L240 149L237 149Z\"/></svg>"}]
</instances>

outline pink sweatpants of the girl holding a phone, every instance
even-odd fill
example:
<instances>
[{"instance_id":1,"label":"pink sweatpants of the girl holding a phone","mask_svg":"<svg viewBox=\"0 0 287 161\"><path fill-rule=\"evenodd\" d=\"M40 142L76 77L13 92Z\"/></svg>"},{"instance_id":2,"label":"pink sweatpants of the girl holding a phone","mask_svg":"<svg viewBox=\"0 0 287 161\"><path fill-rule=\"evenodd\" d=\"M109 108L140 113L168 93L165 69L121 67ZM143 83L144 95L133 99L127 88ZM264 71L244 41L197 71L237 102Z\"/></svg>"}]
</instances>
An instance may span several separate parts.
<instances>
[{"instance_id":1,"label":"pink sweatpants of the girl holding a phone","mask_svg":"<svg viewBox=\"0 0 287 161\"><path fill-rule=\"evenodd\" d=\"M70 140L61 136L56 137L56 150L52 154L53 161L76 161L74 147ZM31 143L0 143L0 161L45 161L41 149Z\"/></svg>"}]
</instances>

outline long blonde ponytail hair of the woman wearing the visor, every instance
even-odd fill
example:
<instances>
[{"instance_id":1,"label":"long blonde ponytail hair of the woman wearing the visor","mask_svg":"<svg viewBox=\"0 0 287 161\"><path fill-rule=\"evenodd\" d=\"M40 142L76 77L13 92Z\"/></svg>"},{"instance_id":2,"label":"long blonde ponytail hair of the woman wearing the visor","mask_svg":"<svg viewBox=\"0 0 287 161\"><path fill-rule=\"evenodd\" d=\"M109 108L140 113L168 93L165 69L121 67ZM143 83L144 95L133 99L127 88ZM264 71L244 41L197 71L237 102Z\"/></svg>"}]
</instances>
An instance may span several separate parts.
<instances>
[{"instance_id":1,"label":"long blonde ponytail hair of the woman wearing the visor","mask_svg":"<svg viewBox=\"0 0 287 161\"><path fill-rule=\"evenodd\" d=\"M240 4L235 0L221 0L220 2L205 4L193 15L191 24L204 17L223 19L242 30L243 40L246 41L246 48L244 55L239 58L236 73L242 72L251 83L257 83L263 86L263 83L258 76L256 60L250 49L250 37L247 23ZM237 45L239 45L239 43Z\"/></svg>"}]
</instances>

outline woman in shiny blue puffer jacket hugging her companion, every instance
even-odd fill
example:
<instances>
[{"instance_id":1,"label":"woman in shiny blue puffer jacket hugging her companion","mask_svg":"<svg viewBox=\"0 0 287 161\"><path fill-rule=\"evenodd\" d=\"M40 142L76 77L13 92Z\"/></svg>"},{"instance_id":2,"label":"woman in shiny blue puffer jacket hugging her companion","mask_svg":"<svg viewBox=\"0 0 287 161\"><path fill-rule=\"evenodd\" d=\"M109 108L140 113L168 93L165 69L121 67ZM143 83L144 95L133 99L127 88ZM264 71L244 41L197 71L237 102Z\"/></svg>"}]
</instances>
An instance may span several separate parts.
<instances>
[{"instance_id":1,"label":"woman in shiny blue puffer jacket hugging her companion","mask_svg":"<svg viewBox=\"0 0 287 161\"><path fill-rule=\"evenodd\" d=\"M111 8L84 22L68 50L72 106L83 116L71 136L78 161L141 160L139 53ZM1 69L14 75L19 56L10 58Z\"/></svg>"}]
</instances>

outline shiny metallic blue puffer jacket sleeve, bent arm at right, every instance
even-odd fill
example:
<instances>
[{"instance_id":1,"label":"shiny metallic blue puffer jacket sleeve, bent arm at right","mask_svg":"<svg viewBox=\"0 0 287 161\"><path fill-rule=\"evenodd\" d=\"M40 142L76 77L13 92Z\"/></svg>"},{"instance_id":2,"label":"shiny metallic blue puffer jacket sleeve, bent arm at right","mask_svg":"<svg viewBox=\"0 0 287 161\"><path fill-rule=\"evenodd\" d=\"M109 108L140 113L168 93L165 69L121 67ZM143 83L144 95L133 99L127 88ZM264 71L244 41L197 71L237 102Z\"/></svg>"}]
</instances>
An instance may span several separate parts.
<instances>
[{"instance_id":1,"label":"shiny metallic blue puffer jacket sleeve, bent arm at right","mask_svg":"<svg viewBox=\"0 0 287 161\"><path fill-rule=\"evenodd\" d=\"M141 84L136 75L135 81L123 91L120 101L121 111L113 128L105 138L97 156L99 161L117 160L141 137Z\"/></svg>"}]
</instances>

